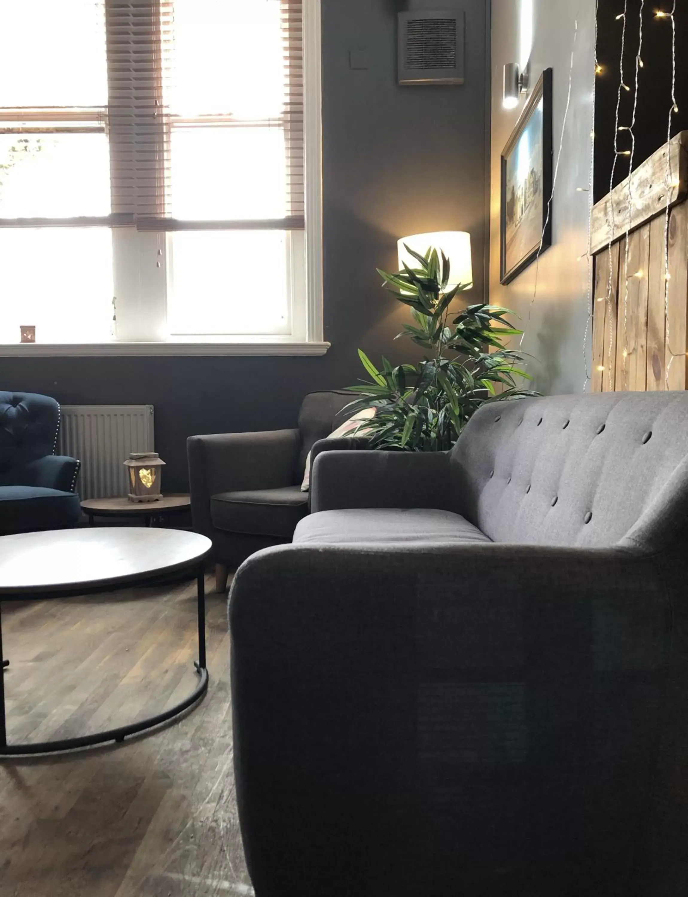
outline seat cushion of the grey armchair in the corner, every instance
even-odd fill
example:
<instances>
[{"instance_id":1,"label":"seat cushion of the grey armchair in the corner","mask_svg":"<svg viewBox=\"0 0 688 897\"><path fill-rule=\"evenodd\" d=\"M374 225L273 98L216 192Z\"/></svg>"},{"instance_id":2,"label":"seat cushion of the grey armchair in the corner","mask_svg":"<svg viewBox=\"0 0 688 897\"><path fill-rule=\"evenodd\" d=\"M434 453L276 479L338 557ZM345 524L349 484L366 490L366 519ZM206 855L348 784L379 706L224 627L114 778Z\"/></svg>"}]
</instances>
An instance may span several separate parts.
<instances>
[{"instance_id":1,"label":"seat cushion of the grey armchair in the corner","mask_svg":"<svg viewBox=\"0 0 688 897\"><path fill-rule=\"evenodd\" d=\"M210 500L210 516L214 527L230 533L291 539L308 505L308 492L300 485L221 492Z\"/></svg>"}]
</instances>

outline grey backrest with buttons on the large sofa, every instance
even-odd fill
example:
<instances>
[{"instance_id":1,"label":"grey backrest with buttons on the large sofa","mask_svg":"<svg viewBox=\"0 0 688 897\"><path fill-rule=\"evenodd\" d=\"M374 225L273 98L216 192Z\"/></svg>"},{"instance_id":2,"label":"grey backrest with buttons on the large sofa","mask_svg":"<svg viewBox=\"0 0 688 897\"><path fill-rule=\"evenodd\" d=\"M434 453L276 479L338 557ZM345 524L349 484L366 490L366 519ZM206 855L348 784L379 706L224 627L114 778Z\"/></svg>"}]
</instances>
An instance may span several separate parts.
<instances>
[{"instance_id":1,"label":"grey backrest with buttons on the large sofa","mask_svg":"<svg viewBox=\"0 0 688 897\"><path fill-rule=\"evenodd\" d=\"M493 541L613 545L659 505L688 516L667 501L688 480L688 393L484 405L451 460L457 510Z\"/></svg>"}]
</instances>

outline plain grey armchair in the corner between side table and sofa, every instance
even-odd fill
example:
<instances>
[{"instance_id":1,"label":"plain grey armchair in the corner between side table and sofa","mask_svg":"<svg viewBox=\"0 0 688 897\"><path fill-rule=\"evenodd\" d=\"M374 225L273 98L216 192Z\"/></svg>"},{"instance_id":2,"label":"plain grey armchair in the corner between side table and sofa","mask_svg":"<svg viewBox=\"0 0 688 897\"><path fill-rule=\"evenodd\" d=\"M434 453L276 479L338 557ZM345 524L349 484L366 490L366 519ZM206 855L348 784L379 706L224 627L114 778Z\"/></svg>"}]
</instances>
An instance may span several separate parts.
<instances>
[{"instance_id":1,"label":"plain grey armchair in the corner between side table and sofa","mask_svg":"<svg viewBox=\"0 0 688 897\"><path fill-rule=\"evenodd\" d=\"M300 491L306 457L344 421L352 401L345 392L309 393L292 430L187 440L194 529L213 540L218 591L249 554L291 541L309 510L309 493ZM331 441L333 448L347 444Z\"/></svg>"}]
</instances>

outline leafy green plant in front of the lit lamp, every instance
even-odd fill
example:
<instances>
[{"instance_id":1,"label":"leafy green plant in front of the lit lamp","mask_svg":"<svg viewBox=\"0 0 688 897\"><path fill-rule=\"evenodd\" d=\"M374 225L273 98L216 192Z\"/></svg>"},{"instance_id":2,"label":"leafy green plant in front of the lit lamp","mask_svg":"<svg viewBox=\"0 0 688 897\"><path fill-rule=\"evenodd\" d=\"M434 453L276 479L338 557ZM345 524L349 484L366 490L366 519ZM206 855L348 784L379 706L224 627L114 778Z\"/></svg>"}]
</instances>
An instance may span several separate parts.
<instances>
[{"instance_id":1,"label":"leafy green plant in front of the lit lamp","mask_svg":"<svg viewBox=\"0 0 688 897\"><path fill-rule=\"evenodd\" d=\"M452 301L469 284L448 290L451 267L444 253L428 249L422 256L405 248L417 267L378 273L414 318L396 339L408 337L427 354L418 364L397 367L383 357L378 370L359 349L370 381L350 387L361 396L350 407L353 413L376 409L365 422L370 448L446 451L481 405L538 394L518 385L519 378L531 379L525 356L502 344L522 333L506 319L513 312L486 304L452 311Z\"/></svg>"}]
</instances>

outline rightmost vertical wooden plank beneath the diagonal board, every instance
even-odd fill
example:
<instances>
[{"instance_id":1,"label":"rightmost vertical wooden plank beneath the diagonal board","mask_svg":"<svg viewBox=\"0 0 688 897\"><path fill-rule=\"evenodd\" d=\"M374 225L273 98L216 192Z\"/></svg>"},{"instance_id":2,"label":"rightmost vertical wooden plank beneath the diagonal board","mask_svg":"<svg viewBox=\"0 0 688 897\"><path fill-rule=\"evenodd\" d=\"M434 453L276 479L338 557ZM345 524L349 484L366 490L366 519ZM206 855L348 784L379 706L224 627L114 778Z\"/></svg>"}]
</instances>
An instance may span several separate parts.
<instances>
[{"instance_id":1,"label":"rightmost vertical wooden plank beneath the diagonal board","mask_svg":"<svg viewBox=\"0 0 688 897\"><path fill-rule=\"evenodd\" d=\"M669 221L669 283L666 322L666 388L686 388L688 325L688 203L677 205Z\"/></svg>"}]
</instances>

